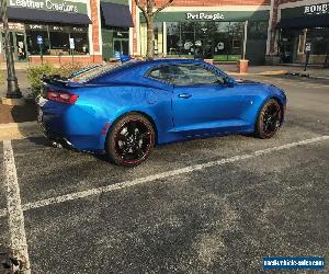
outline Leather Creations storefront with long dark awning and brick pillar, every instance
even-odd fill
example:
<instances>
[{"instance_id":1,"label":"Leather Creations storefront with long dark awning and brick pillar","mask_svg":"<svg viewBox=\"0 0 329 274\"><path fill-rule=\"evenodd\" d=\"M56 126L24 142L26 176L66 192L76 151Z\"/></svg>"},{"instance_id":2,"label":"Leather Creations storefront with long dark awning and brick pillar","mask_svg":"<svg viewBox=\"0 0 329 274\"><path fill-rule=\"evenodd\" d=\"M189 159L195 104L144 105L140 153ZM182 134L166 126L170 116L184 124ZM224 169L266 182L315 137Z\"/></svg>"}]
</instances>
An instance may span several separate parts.
<instances>
[{"instance_id":1,"label":"Leather Creations storefront with long dark awning and brick pillar","mask_svg":"<svg viewBox=\"0 0 329 274\"><path fill-rule=\"evenodd\" d=\"M63 62L72 56L77 61L100 61L99 12L92 8L95 0L8 0L15 61Z\"/></svg>"}]
</instances>

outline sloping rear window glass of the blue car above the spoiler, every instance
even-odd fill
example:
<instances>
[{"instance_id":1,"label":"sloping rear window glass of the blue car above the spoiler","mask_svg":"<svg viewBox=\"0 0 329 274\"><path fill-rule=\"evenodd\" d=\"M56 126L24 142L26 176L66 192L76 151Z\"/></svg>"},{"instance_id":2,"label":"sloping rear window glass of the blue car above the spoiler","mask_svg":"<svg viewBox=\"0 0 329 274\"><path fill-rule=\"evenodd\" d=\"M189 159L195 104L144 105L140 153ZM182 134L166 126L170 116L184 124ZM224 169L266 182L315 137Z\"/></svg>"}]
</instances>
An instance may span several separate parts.
<instances>
[{"instance_id":1,"label":"sloping rear window glass of the blue car above the spoiler","mask_svg":"<svg viewBox=\"0 0 329 274\"><path fill-rule=\"evenodd\" d=\"M88 81L90 81L97 77L100 77L104 73L107 73L110 71L114 72L117 69L131 66L134 62L136 62L136 60L126 61L124 64L104 62L104 64L92 65L92 66L82 68L82 69L78 70L77 72L71 73L68 79L73 82L88 82Z\"/></svg>"}]
</instances>

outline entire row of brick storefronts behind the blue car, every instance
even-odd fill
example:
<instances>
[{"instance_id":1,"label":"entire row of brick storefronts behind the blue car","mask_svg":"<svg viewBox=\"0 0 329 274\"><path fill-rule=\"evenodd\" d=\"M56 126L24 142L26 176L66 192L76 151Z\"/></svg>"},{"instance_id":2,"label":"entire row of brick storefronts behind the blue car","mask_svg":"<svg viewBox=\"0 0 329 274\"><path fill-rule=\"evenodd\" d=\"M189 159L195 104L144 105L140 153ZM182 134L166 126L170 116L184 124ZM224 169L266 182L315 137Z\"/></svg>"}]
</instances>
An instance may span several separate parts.
<instances>
[{"instance_id":1,"label":"entire row of brick storefronts behind the blue car","mask_svg":"<svg viewBox=\"0 0 329 274\"><path fill-rule=\"evenodd\" d=\"M41 54L52 62L146 55L146 23L135 0L8 0L8 13L15 61L39 62ZM311 64L329 61L325 0L174 0L155 25L158 57L303 62L310 44Z\"/></svg>"}]
</instances>

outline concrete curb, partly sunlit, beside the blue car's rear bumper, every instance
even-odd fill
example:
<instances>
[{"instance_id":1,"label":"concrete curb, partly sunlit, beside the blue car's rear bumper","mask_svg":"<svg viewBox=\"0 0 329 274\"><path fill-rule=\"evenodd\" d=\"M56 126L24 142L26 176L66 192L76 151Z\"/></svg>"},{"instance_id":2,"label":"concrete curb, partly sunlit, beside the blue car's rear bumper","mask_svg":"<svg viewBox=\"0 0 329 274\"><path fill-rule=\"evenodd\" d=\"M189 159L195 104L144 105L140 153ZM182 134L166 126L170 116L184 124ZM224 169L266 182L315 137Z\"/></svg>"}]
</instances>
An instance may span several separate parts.
<instances>
[{"instance_id":1,"label":"concrete curb, partly sunlit, beside the blue car's rear bumper","mask_svg":"<svg viewBox=\"0 0 329 274\"><path fill-rule=\"evenodd\" d=\"M36 122L0 124L0 140L23 139L41 135L42 130Z\"/></svg>"}]
</instances>

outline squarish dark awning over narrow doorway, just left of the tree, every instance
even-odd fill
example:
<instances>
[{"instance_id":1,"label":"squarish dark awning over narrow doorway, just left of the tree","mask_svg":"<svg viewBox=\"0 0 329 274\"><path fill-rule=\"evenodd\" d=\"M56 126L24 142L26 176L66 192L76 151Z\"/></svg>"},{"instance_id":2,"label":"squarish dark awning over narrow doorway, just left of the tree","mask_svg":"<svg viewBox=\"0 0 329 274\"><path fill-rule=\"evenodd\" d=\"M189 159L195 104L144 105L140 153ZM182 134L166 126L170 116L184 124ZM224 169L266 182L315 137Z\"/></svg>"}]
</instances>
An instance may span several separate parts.
<instances>
[{"instance_id":1,"label":"squarish dark awning over narrow doorway, just left of the tree","mask_svg":"<svg viewBox=\"0 0 329 274\"><path fill-rule=\"evenodd\" d=\"M125 4L101 2L103 19L106 26L134 26L129 7Z\"/></svg>"}]
</instances>

